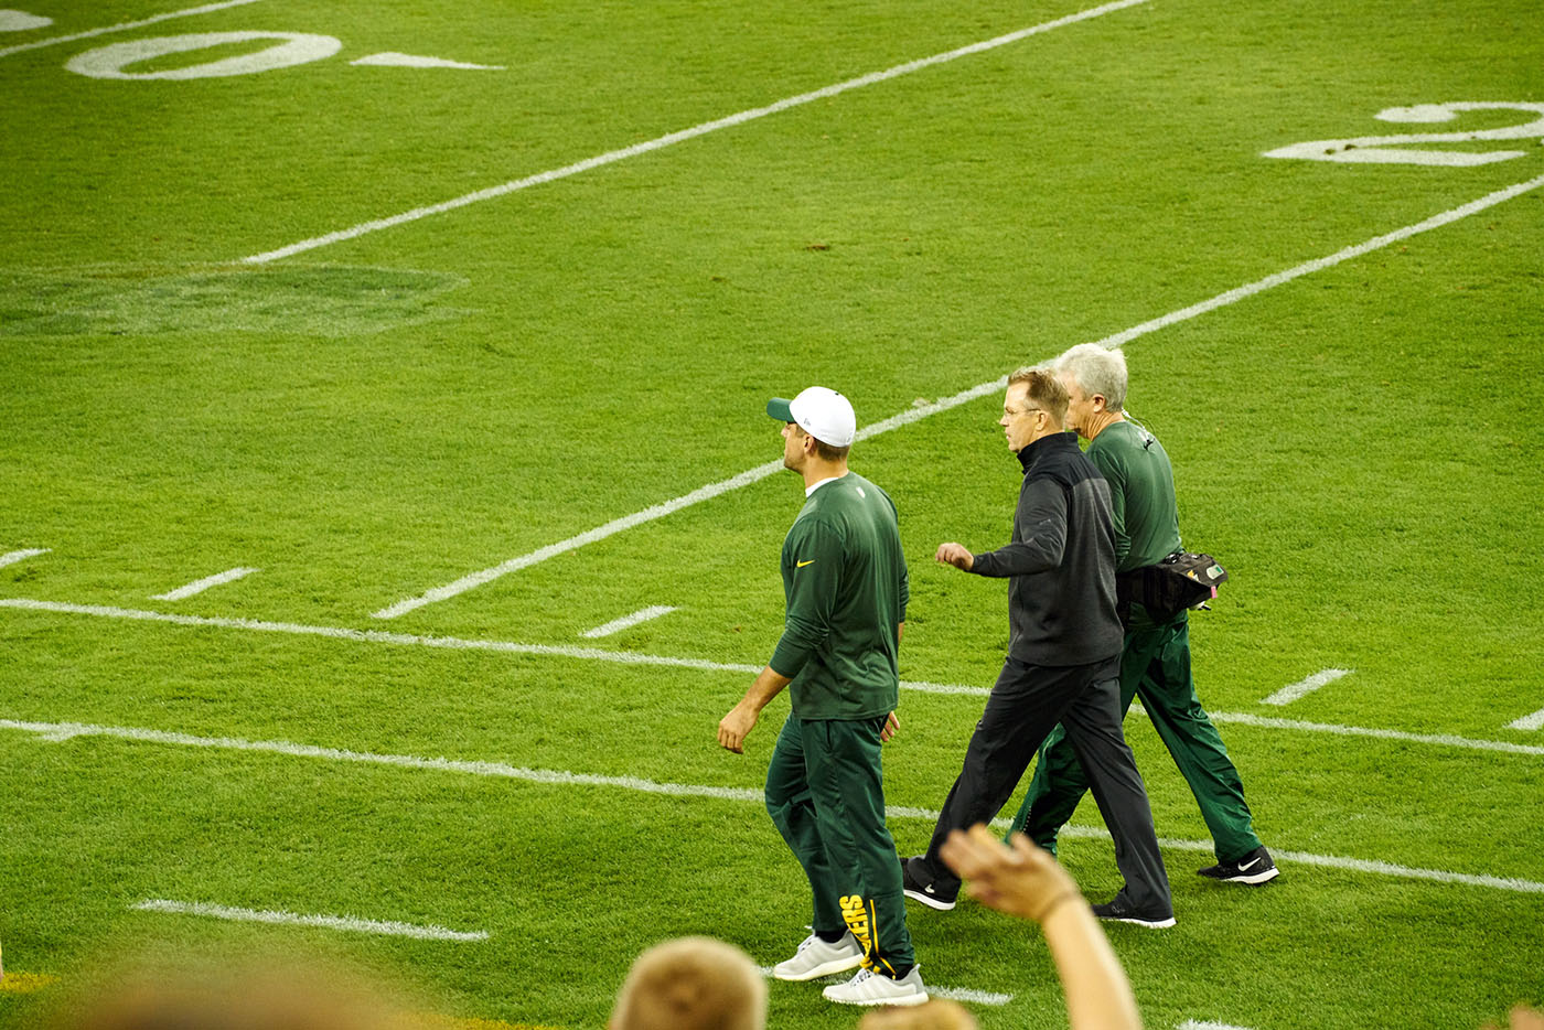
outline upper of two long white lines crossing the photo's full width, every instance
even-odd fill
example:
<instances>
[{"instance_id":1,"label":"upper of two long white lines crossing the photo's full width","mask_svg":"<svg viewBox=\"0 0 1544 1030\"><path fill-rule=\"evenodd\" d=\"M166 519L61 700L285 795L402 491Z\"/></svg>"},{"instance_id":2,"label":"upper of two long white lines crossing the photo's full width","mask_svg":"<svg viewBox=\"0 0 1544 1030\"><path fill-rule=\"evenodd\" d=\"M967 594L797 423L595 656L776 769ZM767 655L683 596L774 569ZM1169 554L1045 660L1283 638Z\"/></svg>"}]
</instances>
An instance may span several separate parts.
<instances>
[{"instance_id":1,"label":"upper of two long white lines crossing the photo's full width","mask_svg":"<svg viewBox=\"0 0 1544 1030\"><path fill-rule=\"evenodd\" d=\"M94 604L65 604L62 601L34 601L31 598L0 598L0 608L19 608L23 612L52 612L59 615L88 615L94 618L128 619L137 622L170 622L173 625L198 629L245 630L255 633L293 633L298 636L321 636L327 639L355 641L364 644L394 644L401 647L440 647L448 650L480 650L510 655L536 655L542 658L571 658L577 661L605 661L619 666L656 666L670 669L696 669L699 672L727 672L736 675L757 675L761 666L749 662L723 662L706 658L675 658L670 655L647 655L639 652L615 652L601 647L568 647L560 644L520 644L516 641L465 639L459 636L417 636L412 633L392 633L386 630L352 630L341 625L303 625L298 622L267 622L261 619L235 619L222 616L176 615L171 612L144 612L139 608L117 608ZM902 690L917 693L987 696L990 687L976 687L959 683L928 683L925 679L902 679ZM1132 706L1132 712L1146 717L1139 704ZM1544 755L1544 746L1515 744L1505 740L1476 740L1450 734L1408 734L1394 729L1376 729L1363 726L1339 726L1332 723L1305 723L1299 720L1268 718L1249 715L1246 712L1207 712L1215 723L1240 723L1260 729L1289 729L1315 734L1334 734L1339 737L1374 737L1379 740L1397 740L1411 744L1441 744L1445 747L1468 747L1473 750L1499 750L1515 755Z\"/></svg>"}]
</instances>

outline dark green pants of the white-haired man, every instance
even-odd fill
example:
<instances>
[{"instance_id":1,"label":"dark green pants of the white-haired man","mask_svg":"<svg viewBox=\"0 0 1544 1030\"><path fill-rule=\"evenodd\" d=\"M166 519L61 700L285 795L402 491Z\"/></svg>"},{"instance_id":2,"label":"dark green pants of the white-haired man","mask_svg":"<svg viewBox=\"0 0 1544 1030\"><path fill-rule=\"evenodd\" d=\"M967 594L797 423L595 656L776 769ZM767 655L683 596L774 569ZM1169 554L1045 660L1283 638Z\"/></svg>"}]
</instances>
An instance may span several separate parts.
<instances>
[{"instance_id":1,"label":"dark green pants of the white-haired man","mask_svg":"<svg viewBox=\"0 0 1544 1030\"><path fill-rule=\"evenodd\" d=\"M1121 649L1121 715L1139 695L1190 792L1201 806L1218 862L1234 862L1260 846L1244 786L1227 757L1223 738L1195 696L1190 678L1190 622L1127 630ZM1055 852L1056 834L1072 818L1089 789L1089 777L1061 726L1041 746L1034 778L1024 795L1013 828Z\"/></svg>"}]
</instances>

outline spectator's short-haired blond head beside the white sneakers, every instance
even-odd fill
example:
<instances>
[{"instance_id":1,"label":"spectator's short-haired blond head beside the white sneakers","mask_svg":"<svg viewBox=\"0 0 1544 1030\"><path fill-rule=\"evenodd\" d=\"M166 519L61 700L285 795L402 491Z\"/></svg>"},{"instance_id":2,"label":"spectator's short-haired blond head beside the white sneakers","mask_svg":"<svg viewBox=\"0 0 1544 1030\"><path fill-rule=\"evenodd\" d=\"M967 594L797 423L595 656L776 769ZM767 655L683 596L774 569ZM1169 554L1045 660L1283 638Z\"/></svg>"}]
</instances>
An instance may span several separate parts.
<instances>
[{"instance_id":1,"label":"spectator's short-haired blond head beside the white sneakers","mask_svg":"<svg viewBox=\"0 0 1544 1030\"><path fill-rule=\"evenodd\" d=\"M763 1030L767 988L740 948L676 937L638 956L616 996L610 1030Z\"/></svg>"}]
</instances>

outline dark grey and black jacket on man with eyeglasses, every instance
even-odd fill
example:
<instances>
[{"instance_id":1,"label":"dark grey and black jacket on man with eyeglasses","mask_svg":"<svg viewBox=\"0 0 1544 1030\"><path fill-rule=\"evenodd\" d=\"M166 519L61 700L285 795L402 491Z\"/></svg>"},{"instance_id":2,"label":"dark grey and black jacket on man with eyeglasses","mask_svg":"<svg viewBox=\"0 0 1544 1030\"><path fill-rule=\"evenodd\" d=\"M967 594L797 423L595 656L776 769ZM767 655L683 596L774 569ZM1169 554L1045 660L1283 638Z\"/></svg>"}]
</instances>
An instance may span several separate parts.
<instances>
[{"instance_id":1,"label":"dark grey and black jacket on man with eyeglasses","mask_svg":"<svg viewBox=\"0 0 1544 1030\"><path fill-rule=\"evenodd\" d=\"M1013 542L974 556L973 573L1008 576L1008 653L1031 666L1089 666L1121 653L1115 615L1110 485L1056 432L1019 451L1024 486Z\"/></svg>"}]
</instances>

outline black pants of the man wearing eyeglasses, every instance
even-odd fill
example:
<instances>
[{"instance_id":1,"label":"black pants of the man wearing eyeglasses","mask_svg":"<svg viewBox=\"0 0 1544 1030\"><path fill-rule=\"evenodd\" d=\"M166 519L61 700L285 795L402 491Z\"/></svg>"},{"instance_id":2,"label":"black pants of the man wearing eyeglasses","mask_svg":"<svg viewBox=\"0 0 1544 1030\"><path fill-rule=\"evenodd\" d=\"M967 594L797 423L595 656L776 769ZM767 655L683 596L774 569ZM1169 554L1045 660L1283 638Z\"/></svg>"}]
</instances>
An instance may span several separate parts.
<instances>
[{"instance_id":1,"label":"black pants of the man wearing eyeglasses","mask_svg":"<svg viewBox=\"0 0 1544 1030\"><path fill-rule=\"evenodd\" d=\"M965 750L965 767L916 869L923 882L942 894L959 889L959 877L939 859L950 831L996 817L1041 743L1061 723L1115 837L1115 863L1126 877L1127 899L1143 913L1173 911L1147 789L1121 735L1119 673L1119 655L1092 666L1028 666L1014 658L1004 662Z\"/></svg>"}]
</instances>

